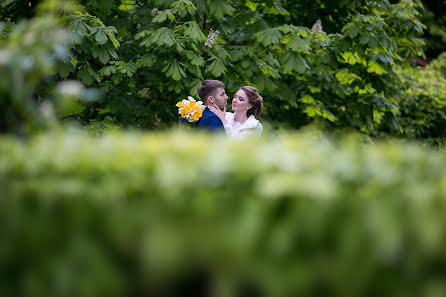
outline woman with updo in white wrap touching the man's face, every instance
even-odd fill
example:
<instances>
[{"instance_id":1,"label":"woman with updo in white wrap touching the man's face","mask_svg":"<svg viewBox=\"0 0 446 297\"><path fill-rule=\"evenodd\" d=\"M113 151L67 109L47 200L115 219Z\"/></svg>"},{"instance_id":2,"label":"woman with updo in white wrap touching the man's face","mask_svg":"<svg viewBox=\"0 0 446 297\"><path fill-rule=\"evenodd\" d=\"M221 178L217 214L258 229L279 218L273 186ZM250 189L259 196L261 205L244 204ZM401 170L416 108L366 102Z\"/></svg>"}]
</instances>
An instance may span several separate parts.
<instances>
[{"instance_id":1,"label":"woman with updo in white wrap touching the man's face","mask_svg":"<svg viewBox=\"0 0 446 297\"><path fill-rule=\"evenodd\" d=\"M259 92L250 86L240 87L232 99L232 112L222 111L211 105L209 109L215 113L223 123L226 135L241 139L249 135L260 135L262 124L256 119L263 111L263 98Z\"/></svg>"}]
</instances>

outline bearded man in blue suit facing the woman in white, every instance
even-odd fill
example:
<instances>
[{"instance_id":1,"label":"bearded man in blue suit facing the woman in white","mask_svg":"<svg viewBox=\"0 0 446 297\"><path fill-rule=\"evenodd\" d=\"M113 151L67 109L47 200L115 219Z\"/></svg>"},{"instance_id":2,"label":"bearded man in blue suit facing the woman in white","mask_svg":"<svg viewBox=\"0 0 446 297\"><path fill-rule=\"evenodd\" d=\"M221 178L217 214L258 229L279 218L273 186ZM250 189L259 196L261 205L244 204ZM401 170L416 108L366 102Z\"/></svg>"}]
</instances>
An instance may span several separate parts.
<instances>
[{"instance_id":1,"label":"bearded man in blue suit facing the woman in white","mask_svg":"<svg viewBox=\"0 0 446 297\"><path fill-rule=\"evenodd\" d=\"M205 80L198 87L198 95L203 101L205 106L213 105L220 110L226 109L226 101L228 96L225 92L225 84L219 80ZM184 122L184 119L181 119ZM205 108L203 115L195 123L195 127L198 129L204 129L207 131L223 131L223 123L215 113Z\"/></svg>"}]
</instances>

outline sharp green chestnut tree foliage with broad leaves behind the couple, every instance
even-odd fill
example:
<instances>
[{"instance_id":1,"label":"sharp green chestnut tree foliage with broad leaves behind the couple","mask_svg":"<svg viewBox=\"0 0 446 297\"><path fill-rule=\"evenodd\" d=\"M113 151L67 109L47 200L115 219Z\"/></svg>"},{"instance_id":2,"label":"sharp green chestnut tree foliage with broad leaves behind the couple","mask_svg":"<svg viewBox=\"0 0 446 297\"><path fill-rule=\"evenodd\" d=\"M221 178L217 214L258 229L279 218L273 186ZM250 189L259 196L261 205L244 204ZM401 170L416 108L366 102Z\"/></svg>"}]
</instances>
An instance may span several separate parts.
<instances>
[{"instance_id":1,"label":"sharp green chestnut tree foliage with broad leaves behind the couple","mask_svg":"<svg viewBox=\"0 0 446 297\"><path fill-rule=\"evenodd\" d=\"M57 70L105 94L79 117L84 124L109 117L170 127L175 102L197 97L203 79L220 79L230 95L255 86L265 99L262 120L276 127L316 121L395 133L395 67L408 69L423 54L417 0L81 3L64 22L82 42ZM318 18L325 31L309 29ZM220 34L206 46L211 29Z\"/></svg>"}]
</instances>

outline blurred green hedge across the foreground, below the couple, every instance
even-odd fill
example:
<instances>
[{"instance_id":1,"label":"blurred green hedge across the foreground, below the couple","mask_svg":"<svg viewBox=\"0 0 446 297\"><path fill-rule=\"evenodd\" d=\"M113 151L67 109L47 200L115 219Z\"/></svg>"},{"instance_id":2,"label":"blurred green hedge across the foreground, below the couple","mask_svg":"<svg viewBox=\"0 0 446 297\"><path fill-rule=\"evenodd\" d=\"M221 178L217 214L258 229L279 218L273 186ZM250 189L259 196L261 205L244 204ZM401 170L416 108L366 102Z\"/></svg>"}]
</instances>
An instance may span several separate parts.
<instances>
[{"instance_id":1,"label":"blurred green hedge across the foreground, below the couple","mask_svg":"<svg viewBox=\"0 0 446 297\"><path fill-rule=\"evenodd\" d=\"M446 156L417 145L2 137L0 191L5 297L446 296Z\"/></svg>"}]
</instances>

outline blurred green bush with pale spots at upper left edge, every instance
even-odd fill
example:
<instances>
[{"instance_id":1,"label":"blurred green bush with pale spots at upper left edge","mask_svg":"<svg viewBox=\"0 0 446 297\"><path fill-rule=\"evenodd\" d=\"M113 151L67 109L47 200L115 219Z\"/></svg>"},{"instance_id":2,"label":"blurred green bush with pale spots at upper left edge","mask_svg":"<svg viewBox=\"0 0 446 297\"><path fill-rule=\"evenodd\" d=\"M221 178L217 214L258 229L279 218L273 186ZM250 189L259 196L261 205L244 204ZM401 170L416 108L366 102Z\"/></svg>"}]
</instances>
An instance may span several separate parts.
<instances>
[{"instance_id":1,"label":"blurred green bush with pale spots at upper left edge","mask_svg":"<svg viewBox=\"0 0 446 297\"><path fill-rule=\"evenodd\" d=\"M7 6L17 10L21 2ZM31 2L25 2L29 9ZM88 42L62 23L62 16L74 14L76 8L71 1L46 1L32 8L37 15L30 20L13 23L0 18L0 133L35 132L81 112L99 98L98 90L87 89L79 81L61 82L55 76L70 60L69 49L80 41L84 46ZM6 19L12 21L14 16L11 13Z\"/></svg>"}]
</instances>

